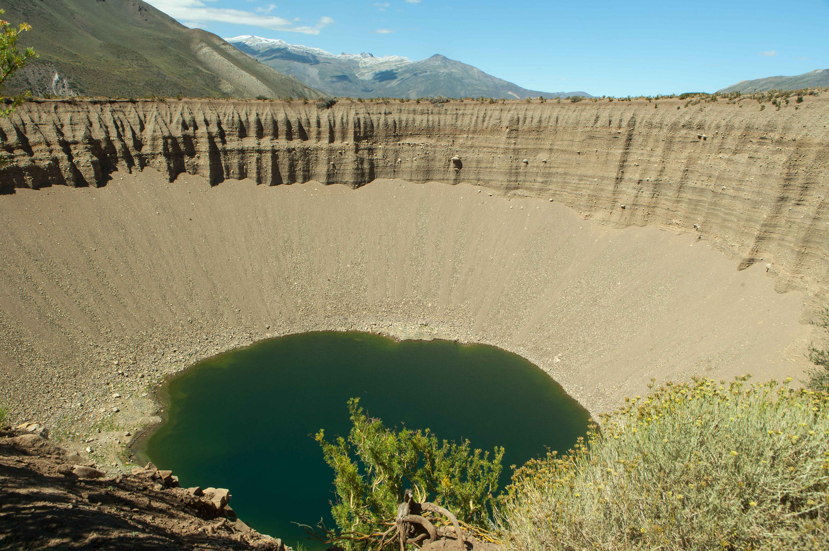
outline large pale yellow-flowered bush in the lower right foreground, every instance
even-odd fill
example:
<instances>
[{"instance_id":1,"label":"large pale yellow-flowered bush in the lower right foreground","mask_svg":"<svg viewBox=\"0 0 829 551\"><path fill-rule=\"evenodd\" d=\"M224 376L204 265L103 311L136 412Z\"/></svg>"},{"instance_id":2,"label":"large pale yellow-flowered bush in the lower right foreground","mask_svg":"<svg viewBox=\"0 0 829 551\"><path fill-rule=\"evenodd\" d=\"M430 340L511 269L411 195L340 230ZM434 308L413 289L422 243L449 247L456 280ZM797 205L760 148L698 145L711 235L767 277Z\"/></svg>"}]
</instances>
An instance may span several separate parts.
<instances>
[{"instance_id":1,"label":"large pale yellow-flowered bush in the lower right foreground","mask_svg":"<svg viewBox=\"0 0 829 551\"><path fill-rule=\"evenodd\" d=\"M829 549L829 394L667 384L516 471L508 547Z\"/></svg>"}]
</instances>

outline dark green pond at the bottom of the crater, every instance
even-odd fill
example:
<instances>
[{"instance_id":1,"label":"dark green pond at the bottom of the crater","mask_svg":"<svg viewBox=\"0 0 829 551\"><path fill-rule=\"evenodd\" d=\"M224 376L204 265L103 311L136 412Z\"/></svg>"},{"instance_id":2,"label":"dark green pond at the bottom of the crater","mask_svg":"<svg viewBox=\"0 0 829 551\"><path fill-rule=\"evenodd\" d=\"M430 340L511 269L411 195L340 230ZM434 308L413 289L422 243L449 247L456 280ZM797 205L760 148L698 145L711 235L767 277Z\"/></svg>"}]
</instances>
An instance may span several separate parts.
<instances>
[{"instance_id":1,"label":"dark green pond at the bottom of the crater","mask_svg":"<svg viewBox=\"0 0 829 551\"><path fill-rule=\"evenodd\" d=\"M394 341L371 333L317 332L232 350L167 385L167 422L146 454L182 486L229 488L240 519L292 545L292 521L333 526L333 474L312 435L347 435L347 399L359 397L387 426L431 428L439 438L506 448L511 465L565 451L589 415L559 384L492 346Z\"/></svg>"}]
</instances>

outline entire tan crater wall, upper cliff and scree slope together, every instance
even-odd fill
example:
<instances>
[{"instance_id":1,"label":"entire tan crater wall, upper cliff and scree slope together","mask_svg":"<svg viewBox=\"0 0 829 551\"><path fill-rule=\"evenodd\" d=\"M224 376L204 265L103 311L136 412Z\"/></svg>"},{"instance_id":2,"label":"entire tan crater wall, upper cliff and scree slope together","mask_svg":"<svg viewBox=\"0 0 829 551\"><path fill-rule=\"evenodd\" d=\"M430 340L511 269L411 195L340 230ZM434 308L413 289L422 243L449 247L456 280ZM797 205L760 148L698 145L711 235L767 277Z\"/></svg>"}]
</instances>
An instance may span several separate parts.
<instances>
[{"instance_id":1,"label":"entire tan crater wall, upper cliff and scree slope together","mask_svg":"<svg viewBox=\"0 0 829 551\"><path fill-rule=\"evenodd\" d=\"M0 119L0 402L119 462L155 382L298 331L500 346L592 413L651 377L798 376L829 102L683 105L26 104Z\"/></svg>"}]
</instances>

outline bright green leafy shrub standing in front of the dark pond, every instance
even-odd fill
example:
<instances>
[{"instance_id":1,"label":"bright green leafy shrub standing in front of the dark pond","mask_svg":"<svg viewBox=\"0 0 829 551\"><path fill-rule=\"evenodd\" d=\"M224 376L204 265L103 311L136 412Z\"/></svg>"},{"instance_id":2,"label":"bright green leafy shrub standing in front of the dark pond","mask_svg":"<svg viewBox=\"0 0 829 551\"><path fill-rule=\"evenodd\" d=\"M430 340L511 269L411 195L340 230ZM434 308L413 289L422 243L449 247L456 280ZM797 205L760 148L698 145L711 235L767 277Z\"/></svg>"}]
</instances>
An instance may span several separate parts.
<instances>
[{"instance_id":1,"label":"bright green leafy shrub standing in front of the dark pond","mask_svg":"<svg viewBox=\"0 0 829 551\"><path fill-rule=\"evenodd\" d=\"M429 429L386 428L370 418L359 399L348 401L351 432L348 438L316 440L325 461L334 470L337 502L332 516L341 534L374 534L394 522L405 485L414 487L417 501L432 500L451 510L458 520L478 523L488 519L497 491L504 449L489 453L472 450L469 441L440 443ZM383 529L381 529L383 528ZM361 549L351 539L339 539L347 549ZM388 542L396 547L396 542Z\"/></svg>"}]
</instances>

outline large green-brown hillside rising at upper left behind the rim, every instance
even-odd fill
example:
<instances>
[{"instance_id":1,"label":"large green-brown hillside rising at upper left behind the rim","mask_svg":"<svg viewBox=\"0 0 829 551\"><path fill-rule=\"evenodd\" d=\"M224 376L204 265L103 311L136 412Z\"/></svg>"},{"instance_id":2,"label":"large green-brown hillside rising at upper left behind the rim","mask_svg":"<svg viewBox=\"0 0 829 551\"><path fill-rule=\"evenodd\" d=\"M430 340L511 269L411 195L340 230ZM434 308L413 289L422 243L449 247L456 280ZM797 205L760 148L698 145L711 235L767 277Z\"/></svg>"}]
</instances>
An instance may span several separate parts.
<instances>
[{"instance_id":1,"label":"large green-brown hillside rising at upper left behind the rim","mask_svg":"<svg viewBox=\"0 0 829 551\"><path fill-rule=\"evenodd\" d=\"M219 36L184 27L142 0L2 0L18 46L41 54L5 93L190 97L319 97Z\"/></svg>"}]
</instances>

